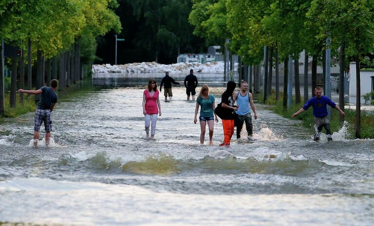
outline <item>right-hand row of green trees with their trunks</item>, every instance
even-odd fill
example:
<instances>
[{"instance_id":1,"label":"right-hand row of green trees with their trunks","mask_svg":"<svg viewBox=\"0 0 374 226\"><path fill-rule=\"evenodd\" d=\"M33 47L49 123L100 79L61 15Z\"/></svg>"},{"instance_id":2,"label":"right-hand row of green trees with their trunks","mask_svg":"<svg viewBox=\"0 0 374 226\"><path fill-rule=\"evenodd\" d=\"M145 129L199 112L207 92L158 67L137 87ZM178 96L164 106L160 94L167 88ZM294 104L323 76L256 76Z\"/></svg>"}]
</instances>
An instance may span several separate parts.
<instances>
[{"instance_id":1,"label":"right-hand row of green trees with their trunks","mask_svg":"<svg viewBox=\"0 0 374 226\"><path fill-rule=\"evenodd\" d=\"M244 65L244 70L248 65L249 68L253 68L249 76L255 75L253 77L255 92L260 92L259 85L256 85L256 78L259 78L256 77L259 65L265 65L264 101L271 91L273 62L276 67L278 100L280 97L278 64L279 60L284 61L283 106L287 108L288 69L291 69L288 68L288 61L295 61L296 102L300 103L298 71L300 52L305 50L306 61L308 55L313 57L312 90L309 92L314 95L313 90L317 86L318 60L322 58L323 63L326 61L329 64L330 57L326 59L324 53L331 51L331 56L340 61L339 106L344 109L344 68L350 61L355 61L357 74L355 137L360 138L360 64L367 63L365 56L374 51L373 0L192 0L192 2L189 21L195 26L194 33L212 43L219 42L222 45L229 39L226 48L240 56L240 64ZM304 76L307 76L307 72L306 63ZM243 71L240 71L240 76L242 73ZM308 94L307 79L304 79L303 85L304 94ZM308 95L304 95L304 101L307 99Z\"/></svg>"}]
</instances>

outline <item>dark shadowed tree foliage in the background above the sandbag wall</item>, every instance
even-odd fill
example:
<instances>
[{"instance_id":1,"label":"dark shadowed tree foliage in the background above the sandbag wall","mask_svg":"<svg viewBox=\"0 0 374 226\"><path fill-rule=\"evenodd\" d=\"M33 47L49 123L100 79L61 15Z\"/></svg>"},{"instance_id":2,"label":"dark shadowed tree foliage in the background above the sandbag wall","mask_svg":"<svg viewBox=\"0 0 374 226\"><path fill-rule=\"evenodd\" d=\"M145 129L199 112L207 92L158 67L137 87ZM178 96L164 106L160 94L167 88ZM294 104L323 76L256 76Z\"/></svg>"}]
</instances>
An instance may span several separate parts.
<instances>
[{"instance_id":1,"label":"dark shadowed tree foliage in the background above the sandbag wall","mask_svg":"<svg viewBox=\"0 0 374 226\"><path fill-rule=\"evenodd\" d=\"M192 26L188 23L190 0L126 0L131 6L140 31L132 42L137 51L153 53L152 60L159 57L175 59L186 51L191 40ZM199 44L196 44L199 45Z\"/></svg>"}]
</instances>

